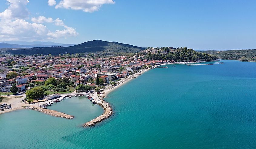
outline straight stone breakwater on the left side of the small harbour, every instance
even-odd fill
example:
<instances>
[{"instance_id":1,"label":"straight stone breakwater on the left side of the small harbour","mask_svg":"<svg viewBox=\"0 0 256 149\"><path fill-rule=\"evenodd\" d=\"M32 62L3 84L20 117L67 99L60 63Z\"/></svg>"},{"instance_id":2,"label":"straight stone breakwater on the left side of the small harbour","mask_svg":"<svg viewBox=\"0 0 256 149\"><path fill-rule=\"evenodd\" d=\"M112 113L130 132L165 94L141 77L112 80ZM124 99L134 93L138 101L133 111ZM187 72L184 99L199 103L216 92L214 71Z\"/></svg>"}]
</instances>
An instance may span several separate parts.
<instances>
[{"instance_id":1,"label":"straight stone breakwater on the left side of the small harbour","mask_svg":"<svg viewBox=\"0 0 256 149\"><path fill-rule=\"evenodd\" d=\"M49 109L38 109L36 107L31 107L31 106L27 106L26 109L30 109L30 110L36 110L48 115L52 115L52 116L56 116L56 117L62 117L62 118L68 118L68 119L72 119L74 118L74 116L72 115L68 115L62 112L58 112L58 111L54 111L54 110L49 110Z\"/></svg>"}]
</instances>

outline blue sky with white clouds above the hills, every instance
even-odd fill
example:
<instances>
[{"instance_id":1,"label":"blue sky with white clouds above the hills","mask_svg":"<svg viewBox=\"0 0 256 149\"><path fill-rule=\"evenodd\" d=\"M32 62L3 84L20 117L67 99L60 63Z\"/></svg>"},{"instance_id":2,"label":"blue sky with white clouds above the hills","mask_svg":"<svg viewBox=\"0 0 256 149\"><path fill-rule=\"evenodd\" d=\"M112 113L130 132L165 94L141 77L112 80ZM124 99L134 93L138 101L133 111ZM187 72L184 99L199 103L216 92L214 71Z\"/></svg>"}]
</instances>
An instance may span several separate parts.
<instances>
[{"instance_id":1,"label":"blue sky with white clouds above the hills","mask_svg":"<svg viewBox=\"0 0 256 149\"><path fill-rule=\"evenodd\" d=\"M0 40L80 44L100 39L140 47L256 48L255 0L51 1L0 0ZM47 20L38 21L39 16ZM57 18L62 23L56 25Z\"/></svg>"}]
</instances>

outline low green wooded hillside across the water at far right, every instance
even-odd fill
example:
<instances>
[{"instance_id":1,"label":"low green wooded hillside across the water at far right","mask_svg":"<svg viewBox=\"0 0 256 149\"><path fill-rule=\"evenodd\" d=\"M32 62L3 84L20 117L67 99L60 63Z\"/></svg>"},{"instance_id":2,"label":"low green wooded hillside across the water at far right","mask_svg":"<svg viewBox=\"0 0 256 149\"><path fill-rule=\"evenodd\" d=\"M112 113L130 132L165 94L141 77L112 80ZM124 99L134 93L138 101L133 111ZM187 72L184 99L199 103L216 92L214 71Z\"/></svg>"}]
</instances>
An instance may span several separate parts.
<instances>
[{"instance_id":1,"label":"low green wooded hillside across the water at far right","mask_svg":"<svg viewBox=\"0 0 256 149\"><path fill-rule=\"evenodd\" d=\"M253 49L253 50L227 50L227 51L208 50L208 51L203 51L203 53L213 54L222 59L256 61L256 49Z\"/></svg>"}]
</instances>

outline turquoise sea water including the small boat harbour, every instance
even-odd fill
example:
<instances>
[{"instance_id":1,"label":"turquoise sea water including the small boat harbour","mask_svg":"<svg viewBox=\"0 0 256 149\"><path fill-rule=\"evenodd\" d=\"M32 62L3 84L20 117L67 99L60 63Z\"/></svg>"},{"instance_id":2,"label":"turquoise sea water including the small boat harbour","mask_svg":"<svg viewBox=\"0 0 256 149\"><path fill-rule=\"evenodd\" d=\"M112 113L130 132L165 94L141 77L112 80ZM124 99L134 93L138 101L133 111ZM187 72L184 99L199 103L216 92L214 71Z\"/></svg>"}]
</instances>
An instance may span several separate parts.
<instances>
[{"instance_id":1,"label":"turquoise sea water including the small boat harbour","mask_svg":"<svg viewBox=\"0 0 256 149\"><path fill-rule=\"evenodd\" d=\"M256 148L256 63L156 68L111 92L114 115L84 97L0 115L0 148Z\"/></svg>"}]
</instances>

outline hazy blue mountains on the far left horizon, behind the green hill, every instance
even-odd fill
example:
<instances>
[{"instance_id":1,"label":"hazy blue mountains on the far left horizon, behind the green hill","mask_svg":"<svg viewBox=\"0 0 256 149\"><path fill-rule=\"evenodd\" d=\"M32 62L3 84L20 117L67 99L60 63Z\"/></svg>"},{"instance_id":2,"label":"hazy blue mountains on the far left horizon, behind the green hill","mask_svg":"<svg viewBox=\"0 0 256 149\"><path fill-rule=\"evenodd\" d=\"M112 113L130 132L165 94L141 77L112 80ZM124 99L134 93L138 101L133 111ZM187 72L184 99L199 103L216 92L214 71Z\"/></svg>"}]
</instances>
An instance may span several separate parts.
<instances>
[{"instance_id":1,"label":"hazy blue mountains on the far left horizon, behind the green hill","mask_svg":"<svg viewBox=\"0 0 256 149\"><path fill-rule=\"evenodd\" d=\"M76 44L60 44L54 42L41 42L41 41L33 41L33 42L25 42L25 41L3 41L0 42L0 48L32 48L32 47L69 47L74 46Z\"/></svg>"}]
</instances>

